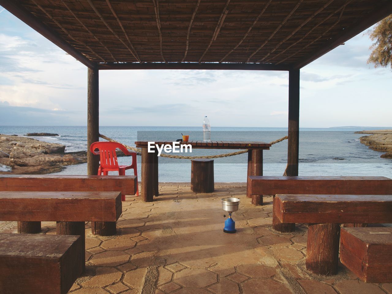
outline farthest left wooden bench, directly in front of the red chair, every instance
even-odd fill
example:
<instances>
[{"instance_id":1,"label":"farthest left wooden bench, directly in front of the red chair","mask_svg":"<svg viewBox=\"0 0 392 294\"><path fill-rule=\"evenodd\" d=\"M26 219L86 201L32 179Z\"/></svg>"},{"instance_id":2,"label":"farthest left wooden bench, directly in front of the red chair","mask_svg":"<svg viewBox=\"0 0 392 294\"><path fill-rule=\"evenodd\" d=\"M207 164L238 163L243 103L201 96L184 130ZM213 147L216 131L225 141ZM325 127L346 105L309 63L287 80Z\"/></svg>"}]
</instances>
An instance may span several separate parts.
<instances>
[{"instance_id":1,"label":"farthest left wooden bench, directly in front of the red chair","mask_svg":"<svg viewBox=\"0 0 392 294\"><path fill-rule=\"evenodd\" d=\"M0 191L121 191L134 195L137 191L135 176L57 176L57 175L0 175ZM40 221L18 221L18 232L38 233ZM92 222L91 231L95 235L111 236L116 234L116 223Z\"/></svg>"}]
</instances>

